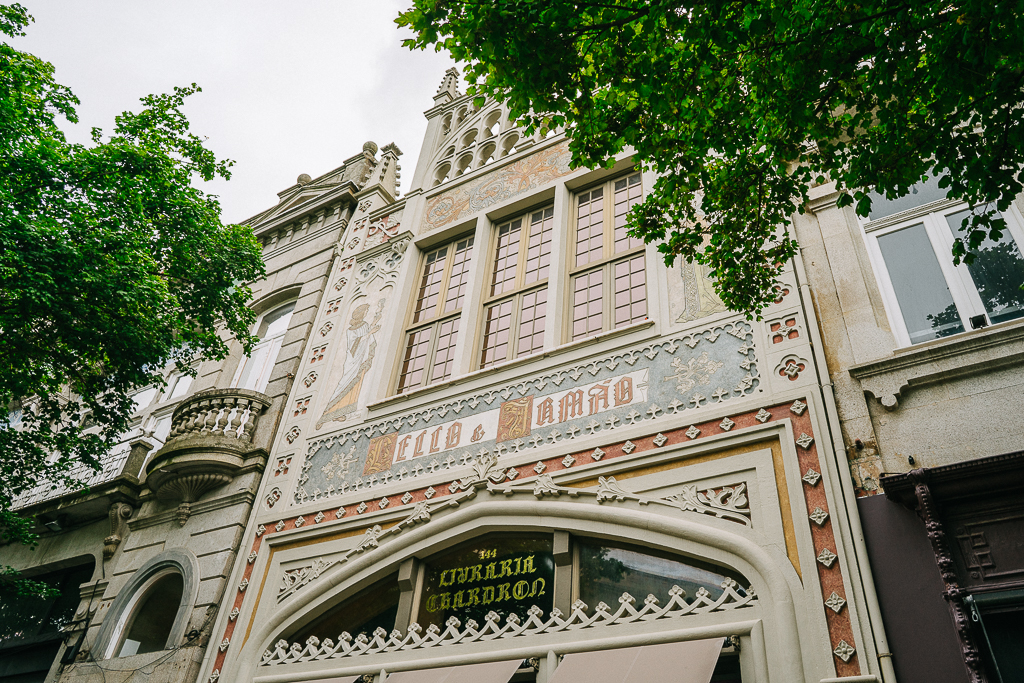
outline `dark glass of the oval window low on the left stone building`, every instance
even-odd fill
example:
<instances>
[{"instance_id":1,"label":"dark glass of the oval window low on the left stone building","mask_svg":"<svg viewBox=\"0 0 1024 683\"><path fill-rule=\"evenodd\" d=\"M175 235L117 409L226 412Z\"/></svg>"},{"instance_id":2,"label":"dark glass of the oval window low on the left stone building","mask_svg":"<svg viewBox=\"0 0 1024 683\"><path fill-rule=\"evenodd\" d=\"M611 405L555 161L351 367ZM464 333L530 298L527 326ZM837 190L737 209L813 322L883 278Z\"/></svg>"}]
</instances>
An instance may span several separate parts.
<instances>
[{"instance_id":1,"label":"dark glass of the oval window low on the left stone building","mask_svg":"<svg viewBox=\"0 0 1024 683\"><path fill-rule=\"evenodd\" d=\"M168 640L183 591L184 581L176 570L154 574L136 593L134 603L122 613L124 626L109 651L124 657L173 647L175 643Z\"/></svg>"}]
</instances>

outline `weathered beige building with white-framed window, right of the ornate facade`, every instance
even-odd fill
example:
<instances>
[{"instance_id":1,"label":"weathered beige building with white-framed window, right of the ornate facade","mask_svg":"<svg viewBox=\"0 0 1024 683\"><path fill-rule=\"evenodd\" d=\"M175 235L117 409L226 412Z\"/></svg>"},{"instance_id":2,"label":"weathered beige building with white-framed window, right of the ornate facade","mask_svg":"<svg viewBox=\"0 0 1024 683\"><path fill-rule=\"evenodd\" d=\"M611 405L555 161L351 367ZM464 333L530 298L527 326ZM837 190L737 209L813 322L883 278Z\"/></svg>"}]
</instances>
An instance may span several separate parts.
<instances>
[{"instance_id":1,"label":"weathered beige building with white-framed window, right of the ornate facade","mask_svg":"<svg viewBox=\"0 0 1024 683\"><path fill-rule=\"evenodd\" d=\"M794 218L897 678L1024 676L1024 217L972 263L933 179ZM884 494L881 495L881 494Z\"/></svg>"}]
</instances>

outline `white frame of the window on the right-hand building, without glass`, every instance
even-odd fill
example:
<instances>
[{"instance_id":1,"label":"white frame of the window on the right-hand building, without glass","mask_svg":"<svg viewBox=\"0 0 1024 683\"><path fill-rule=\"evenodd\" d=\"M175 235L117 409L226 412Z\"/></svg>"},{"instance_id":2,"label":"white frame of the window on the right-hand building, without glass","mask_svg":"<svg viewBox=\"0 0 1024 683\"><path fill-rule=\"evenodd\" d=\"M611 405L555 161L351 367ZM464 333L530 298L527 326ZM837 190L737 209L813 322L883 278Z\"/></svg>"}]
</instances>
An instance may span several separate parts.
<instances>
[{"instance_id":1,"label":"white frame of the window on the right-hand building, without glass","mask_svg":"<svg viewBox=\"0 0 1024 683\"><path fill-rule=\"evenodd\" d=\"M908 211L902 211L892 216L884 216L873 221L860 220L868 259L874 271L876 282L882 293L883 302L885 303L889 328L893 331L896 342L901 348L919 346L939 341L939 339L923 342L910 341L910 334L903 319L903 311L896 298L896 290L893 288L888 266L882 256L882 249L879 247L879 238L916 223L924 223L928 240L939 262L942 276L946 281L949 294L952 296L956 311L963 322L964 332L971 332L971 318L975 315L984 314L986 319L988 319L988 311L985 310L981 296L978 294L978 288L974 284L974 278L971 276L967 264L963 262L959 265L953 264L952 248L954 236L946 222L946 216L966 209L970 209L970 206L963 202L940 200L924 204ZM1011 205L1007 211L1001 212L1001 215L1006 219L1007 232L1017 242L1018 249L1024 254L1024 216L1022 216L1015 205Z\"/></svg>"}]
</instances>

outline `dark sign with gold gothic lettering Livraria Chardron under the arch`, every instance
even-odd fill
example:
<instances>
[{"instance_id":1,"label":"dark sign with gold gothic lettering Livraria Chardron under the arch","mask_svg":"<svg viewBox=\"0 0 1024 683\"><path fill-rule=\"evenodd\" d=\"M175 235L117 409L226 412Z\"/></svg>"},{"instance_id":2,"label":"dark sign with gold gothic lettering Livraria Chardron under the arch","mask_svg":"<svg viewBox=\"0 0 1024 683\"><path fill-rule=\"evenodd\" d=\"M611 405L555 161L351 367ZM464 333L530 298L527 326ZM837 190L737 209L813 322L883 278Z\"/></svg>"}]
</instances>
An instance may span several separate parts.
<instances>
[{"instance_id":1,"label":"dark sign with gold gothic lettering Livraria Chardron under the arch","mask_svg":"<svg viewBox=\"0 0 1024 683\"><path fill-rule=\"evenodd\" d=\"M421 626L444 626L451 616L481 627L488 612L502 617L554 604L555 562L551 541L498 537L474 543L427 563L420 598Z\"/></svg>"}]
</instances>

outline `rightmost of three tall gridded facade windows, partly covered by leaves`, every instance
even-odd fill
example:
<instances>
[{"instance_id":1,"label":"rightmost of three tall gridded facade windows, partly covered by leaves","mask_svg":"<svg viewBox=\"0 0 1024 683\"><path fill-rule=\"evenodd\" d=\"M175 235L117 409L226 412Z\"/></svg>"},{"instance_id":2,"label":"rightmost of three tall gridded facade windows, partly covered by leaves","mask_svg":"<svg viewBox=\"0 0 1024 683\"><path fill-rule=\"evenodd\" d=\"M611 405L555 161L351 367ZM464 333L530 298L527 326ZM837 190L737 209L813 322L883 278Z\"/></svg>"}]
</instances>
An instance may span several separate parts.
<instances>
[{"instance_id":1,"label":"rightmost of three tall gridded facade windows, partly covered by leaves","mask_svg":"<svg viewBox=\"0 0 1024 683\"><path fill-rule=\"evenodd\" d=\"M572 339L647 318L643 241L626 229L626 215L642 198L639 173L577 196L569 288Z\"/></svg>"}]
</instances>

